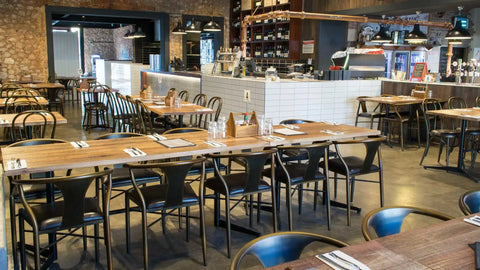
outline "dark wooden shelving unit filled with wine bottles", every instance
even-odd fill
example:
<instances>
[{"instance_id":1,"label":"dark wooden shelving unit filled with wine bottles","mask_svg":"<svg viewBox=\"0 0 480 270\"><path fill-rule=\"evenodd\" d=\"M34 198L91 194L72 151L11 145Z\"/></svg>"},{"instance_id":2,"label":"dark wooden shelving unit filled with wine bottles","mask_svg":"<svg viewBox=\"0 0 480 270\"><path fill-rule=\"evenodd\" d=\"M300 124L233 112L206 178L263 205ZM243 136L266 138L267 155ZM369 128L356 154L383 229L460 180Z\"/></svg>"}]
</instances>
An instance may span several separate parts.
<instances>
[{"instance_id":1,"label":"dark wooden shelving unit filled with wine bottles","mask_svg":"<svg viewBox=\"0 0 480 270\"><path fill-rule=\"evenodd\" d=\"M263 2L263 4L262 4ZM241 21L245 16L276 10L301 11L301 0L232 0L230 43L241 45ZM267 59L300 58L302 23L300 19L256 21L247 28L247 57Z\"/></svg>"}]
</instances>

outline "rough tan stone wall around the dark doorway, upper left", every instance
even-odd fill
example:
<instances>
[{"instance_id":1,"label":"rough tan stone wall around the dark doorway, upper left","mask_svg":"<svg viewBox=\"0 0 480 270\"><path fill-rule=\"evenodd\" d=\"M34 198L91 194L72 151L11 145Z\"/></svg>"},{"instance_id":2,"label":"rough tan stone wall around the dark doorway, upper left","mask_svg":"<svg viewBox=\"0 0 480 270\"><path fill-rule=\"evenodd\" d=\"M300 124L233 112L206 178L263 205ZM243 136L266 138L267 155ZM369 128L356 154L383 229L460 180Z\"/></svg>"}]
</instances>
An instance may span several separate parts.
<instances>
[{"instance_id":1,"label":"rough tan stone wall around the dark doorway, upper left","mask_svg":"<svg viewBox=\"0 0 480 270\"><path fill-rule=\"evenodd\" d=\"M213 15L225 17L224 44L229 44L230 0L1 0L0 79L18 79L22 66L35 78L47 79L45 5L166 12L175 18L181 14L211 16L214 5ZM181 39L173 36L169 44L172 57L180 55L181 48Z\"/></svg>"}]
</instances>

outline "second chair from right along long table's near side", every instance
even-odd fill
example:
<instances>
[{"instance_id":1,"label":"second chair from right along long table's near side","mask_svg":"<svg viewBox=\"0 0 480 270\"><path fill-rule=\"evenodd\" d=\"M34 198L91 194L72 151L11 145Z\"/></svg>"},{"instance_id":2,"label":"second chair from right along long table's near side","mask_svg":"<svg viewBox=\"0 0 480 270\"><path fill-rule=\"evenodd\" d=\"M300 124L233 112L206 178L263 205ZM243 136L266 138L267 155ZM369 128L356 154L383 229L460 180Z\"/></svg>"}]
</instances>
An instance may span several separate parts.
<instances>
[{"instance_id":1,"label":"second chair from right along long table's near side","mask_svg":"<svg viewBox=\"0 0 480 270\"><path fill-rule=\"evenodd\" d=\"M323 193L326 211L327 211L327 226L330 229L330 188L328 183L328 163L324 162L323 172L319 170L320 159L328 159L328 147L330 142L315 143L310 145L291 145L278 146L277 166L275 168L275 180L277 183L277 204L280 202L280 183L285 185L285 195L287 200L287 214L288 214L288 229L293 230L292 218L292 196L295 191L298 192L298 213L302 212L302 201L304 184L315 183L313 208L317 207L317 196L319 192ZM283 151L286 150L302 150L307 154L306 163L286 163L280 158ZM264 171L264 175L271 178L270 169ZM318 182L323 182L322 190L318 189ZM308 189L305 189L308 190Z\"/></svg>"}]
</instances>

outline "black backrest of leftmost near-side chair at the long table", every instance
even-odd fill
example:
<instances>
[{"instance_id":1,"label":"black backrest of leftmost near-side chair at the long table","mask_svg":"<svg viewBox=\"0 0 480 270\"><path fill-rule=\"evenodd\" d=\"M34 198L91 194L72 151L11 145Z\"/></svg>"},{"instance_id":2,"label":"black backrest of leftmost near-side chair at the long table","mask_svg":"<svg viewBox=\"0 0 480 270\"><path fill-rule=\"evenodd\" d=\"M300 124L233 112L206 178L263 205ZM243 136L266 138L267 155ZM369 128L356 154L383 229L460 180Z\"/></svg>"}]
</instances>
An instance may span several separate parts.
<instances>
[{"instance_id":1,"label":"black backrest of leftmost near-side chair at the long table","mask_svg":"<svg viewBox=\"0 0 480 270\"><path fill-rule=\"evenodd\" d=\"M37 178L34 180L20 180L14 179L12 183L19 187L20 197L27 212L33 213L28 200L25 198L23 190L24 185L45 185L53 184L62 193L63 198L63 215L61 228L67 229L78 227L85 223L85 198L88 188L95 179L102 179L103 200L104 205L108 205L110 201L111 189L111 173L112 169L105 168L105 170L96 173L62 176L54 178ZM53 202L56 204L58 201ZM103 208L103 207L102 207ZM107 209L102 209L104 215L108 215ZM106 210L106 211L105 211ZM36 222L36 221L34 221Z\"/></svg>"}]
</instances>

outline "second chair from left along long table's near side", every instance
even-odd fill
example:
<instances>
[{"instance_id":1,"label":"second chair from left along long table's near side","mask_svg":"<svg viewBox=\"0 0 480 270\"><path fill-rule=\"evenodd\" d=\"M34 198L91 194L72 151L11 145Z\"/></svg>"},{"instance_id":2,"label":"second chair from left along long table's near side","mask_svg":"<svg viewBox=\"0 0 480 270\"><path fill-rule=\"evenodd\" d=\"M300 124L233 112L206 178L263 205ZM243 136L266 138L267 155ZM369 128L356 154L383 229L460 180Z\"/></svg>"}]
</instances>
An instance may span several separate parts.
<instances>
[{"instance_id":1,"label":"second chair from left along long table's near side","mask_svg":"<svg viewBox=\"0 0 480 270\"><path fill-rule=\"evenodd\" d=\"M127 191L125 196L125 227L127 253L130 252L130 201L140 208L142 213L142 236L144 268L148 269L148 236L147 236L147 213L162 215L162 225L165 228L165 216L169 210L180 208L186 209L186 238L188 241L190 230L190 207L198 205L200 208L200 235L202 238L203 265L207 265L207 243L205 237L205 215L204 215L204 176L202 170L198 194L195 193L190 184L186 183L188 171L194 164L203 164L205 158L194 160L182 160L165 163L148 164L127 164L130 169L133 188ZM137 169L160 169L165 176L164 184L139 187L136 182ZM163 231L165 233L165 230Z\"/></svg>"}]
</instances>

